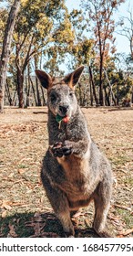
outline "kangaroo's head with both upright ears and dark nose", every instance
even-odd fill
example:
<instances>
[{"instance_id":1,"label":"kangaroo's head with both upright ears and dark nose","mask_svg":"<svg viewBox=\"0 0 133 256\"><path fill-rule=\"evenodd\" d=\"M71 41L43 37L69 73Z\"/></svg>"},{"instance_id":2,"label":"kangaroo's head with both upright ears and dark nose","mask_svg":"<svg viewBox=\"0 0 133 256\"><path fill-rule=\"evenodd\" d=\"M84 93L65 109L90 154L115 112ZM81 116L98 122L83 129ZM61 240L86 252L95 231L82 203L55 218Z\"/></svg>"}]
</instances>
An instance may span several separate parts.
<instances>
[{"instance_id":1,"label":"kangaroo's head with both upright ears and dark nose","mask_svg":"<svg viewBox=\"0 0 133 256\"><path fill-rule=\"evenodd\" d=\"M36 69L36 76L47 90L47 105L54 115L69 118L77 111L75 86L84 66L68 74L64 79L56 81L43 70Z\"/></svg>"}]
</instances>

